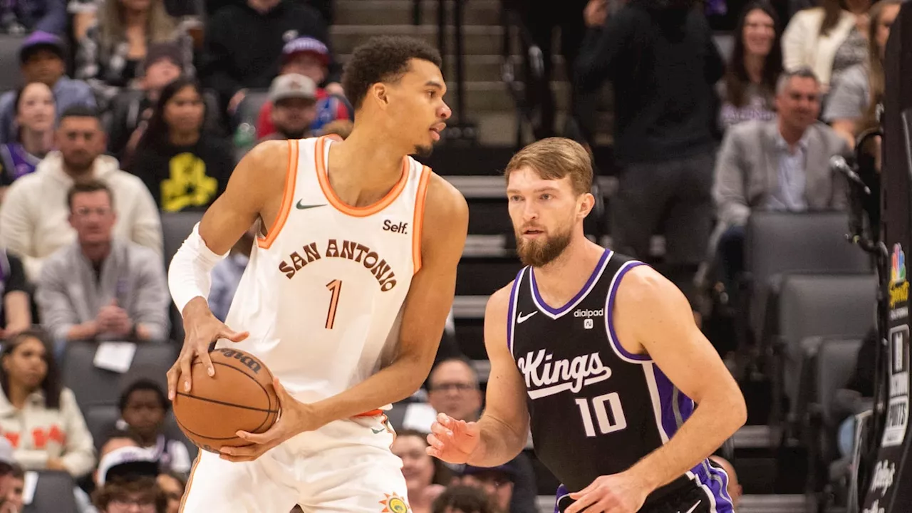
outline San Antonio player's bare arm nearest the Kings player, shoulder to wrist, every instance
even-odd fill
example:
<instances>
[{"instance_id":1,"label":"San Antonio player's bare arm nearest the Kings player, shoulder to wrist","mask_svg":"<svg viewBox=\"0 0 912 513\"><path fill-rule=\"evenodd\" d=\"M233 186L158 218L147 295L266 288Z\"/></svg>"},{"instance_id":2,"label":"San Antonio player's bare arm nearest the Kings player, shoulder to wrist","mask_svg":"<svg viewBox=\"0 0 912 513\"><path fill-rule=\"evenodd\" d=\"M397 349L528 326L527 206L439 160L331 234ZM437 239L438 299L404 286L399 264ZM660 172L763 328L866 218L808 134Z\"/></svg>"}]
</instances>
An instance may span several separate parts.
<instances>
[{"instance_id":1,"label":"San Antonio player's bare arm nearest the Kings player, shoulder to wrist","mask_svg":"<svg viewBox=\"0 0 912 513\"><path fill-rule=\"evenodd\" d=\"M469 225L465 198L432 174L421 234L421 268L411 279L399 344L387 367L353 388L310 404L319 425L409 397L427 378L456 293L456 266Z\"/></svg>"}]
</instances>

